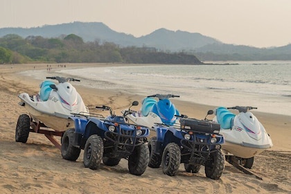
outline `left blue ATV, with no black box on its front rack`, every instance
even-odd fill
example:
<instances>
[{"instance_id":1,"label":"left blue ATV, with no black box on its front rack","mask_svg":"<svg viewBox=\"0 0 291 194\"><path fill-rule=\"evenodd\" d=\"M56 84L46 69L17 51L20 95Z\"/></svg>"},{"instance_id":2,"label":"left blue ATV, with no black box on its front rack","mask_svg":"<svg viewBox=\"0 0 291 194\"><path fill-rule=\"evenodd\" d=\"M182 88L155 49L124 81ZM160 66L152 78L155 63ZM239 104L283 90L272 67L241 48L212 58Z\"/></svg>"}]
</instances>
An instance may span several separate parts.
<instances>
[{"instance_id":1,"label":"left blue ATV, with no black box on its front rack","mask_svg":"<svg viewBox=\"0 0 291 194\"><path fill-rule=\"evenodd\" d=\"M138 105L138 102L132 105ZM104 118L100 114L73 114L70 117L75 128L67 130L62 136L62 158L76 161L82 149L86 168L98 169L101 161L106 166L116 166L124 158L128 160L132 175L142 175L150 155L146 145L148 128L127 123L123 116L116 116L108 106L96 108L109 110L110 115Z\"/></svg>"}]
</instances>

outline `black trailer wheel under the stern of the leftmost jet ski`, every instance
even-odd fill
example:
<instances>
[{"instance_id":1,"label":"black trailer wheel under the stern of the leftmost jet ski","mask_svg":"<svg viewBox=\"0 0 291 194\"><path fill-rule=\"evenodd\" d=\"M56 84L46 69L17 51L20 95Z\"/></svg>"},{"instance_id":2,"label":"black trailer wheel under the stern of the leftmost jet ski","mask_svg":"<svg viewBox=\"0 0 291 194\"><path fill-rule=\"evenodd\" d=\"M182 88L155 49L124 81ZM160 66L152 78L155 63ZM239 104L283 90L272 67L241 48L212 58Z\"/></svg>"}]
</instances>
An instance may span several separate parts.
<instances>
[{"instance_id":1,"label":"black trailer wheel under the stern of the leftmost jet ski","mask_svg":"<svg viewBox=\"0 0 291 194\"><path fill-rule=\"evenodd\" d=\"M15 130L15 141L26 143L30 131L30 117L27 114L21 114L17 120Z\"/></svg>"}]
</instances>

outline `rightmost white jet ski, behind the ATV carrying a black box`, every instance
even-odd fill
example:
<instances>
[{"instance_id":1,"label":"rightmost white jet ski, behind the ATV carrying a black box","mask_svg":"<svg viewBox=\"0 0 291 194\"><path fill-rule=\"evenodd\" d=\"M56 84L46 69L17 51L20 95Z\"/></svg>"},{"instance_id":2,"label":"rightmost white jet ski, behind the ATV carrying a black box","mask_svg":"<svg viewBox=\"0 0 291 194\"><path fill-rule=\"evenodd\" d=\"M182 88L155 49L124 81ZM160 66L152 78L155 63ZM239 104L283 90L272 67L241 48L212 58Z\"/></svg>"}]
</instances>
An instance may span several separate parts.
<instances>
[{"instance_id":1,"label":"rightmost white jet ski, behind the ATV carrying a black box","mask_svg":"<svg viewBox=\"0 0 291 194\"><path fill-rule=\"evenodd\" d=\"M233 114L228 109L237 109L238 114ZM258 118L249 112L256 107L218 107L215 109L213 121L220 123L220 134L224 136L222 144L224 154L234 155L241 165L252 168L254 156L268 148L273 143L265 127Z\"/></svg>"}]
</instances>

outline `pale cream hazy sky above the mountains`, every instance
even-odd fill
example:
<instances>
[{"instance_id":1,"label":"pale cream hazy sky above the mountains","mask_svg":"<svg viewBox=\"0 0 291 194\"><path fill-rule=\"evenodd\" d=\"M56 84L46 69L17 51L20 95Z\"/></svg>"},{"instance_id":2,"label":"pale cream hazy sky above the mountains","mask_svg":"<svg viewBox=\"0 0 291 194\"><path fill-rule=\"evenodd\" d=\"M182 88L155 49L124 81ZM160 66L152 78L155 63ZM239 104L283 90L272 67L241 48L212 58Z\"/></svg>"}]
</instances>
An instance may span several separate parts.
<instances>
[{"instance_id":1,"label":"pale cream hazy sky above the mountains","mask_svg":"<svg viewBox=\"0 0 291 194\"><path fill-rule=\"evenodd\" d=\"M291 0L0 0L0 28L73 21L148 35L159 28L201 33L227 44L291 44Z\"/></svg>"}]
</instances>

